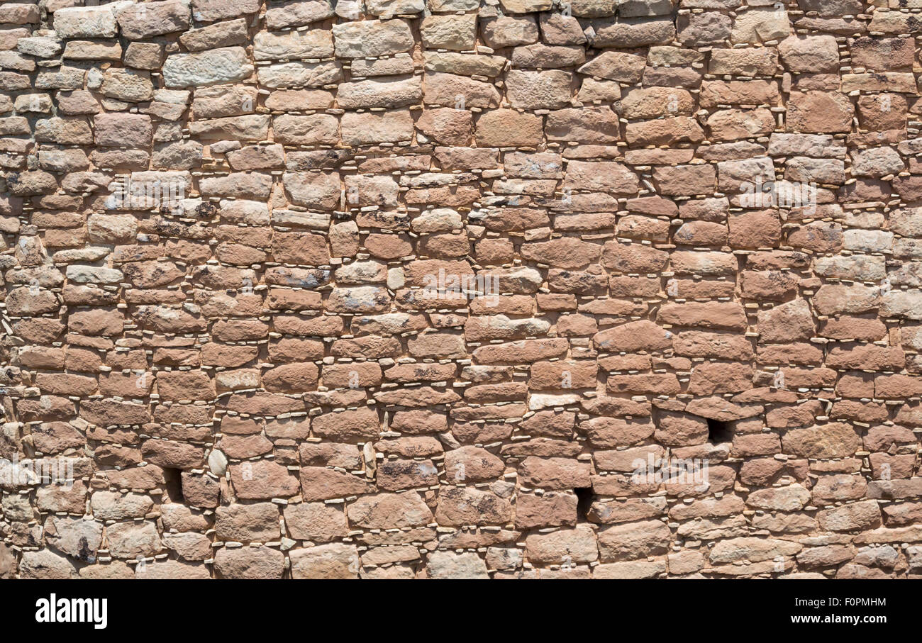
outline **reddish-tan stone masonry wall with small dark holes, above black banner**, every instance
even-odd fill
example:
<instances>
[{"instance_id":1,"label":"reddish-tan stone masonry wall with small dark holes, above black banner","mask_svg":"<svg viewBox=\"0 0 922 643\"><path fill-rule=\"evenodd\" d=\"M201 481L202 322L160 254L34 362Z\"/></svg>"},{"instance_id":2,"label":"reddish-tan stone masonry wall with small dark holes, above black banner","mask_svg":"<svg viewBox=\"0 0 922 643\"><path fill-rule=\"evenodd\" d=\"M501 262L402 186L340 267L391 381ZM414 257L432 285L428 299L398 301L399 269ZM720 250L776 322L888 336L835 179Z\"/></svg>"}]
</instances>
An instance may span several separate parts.
<instances>
[{"instance_id":1,"label":"reddish-tan stone masonry wall with small dark holes, above black banner","mask_svg":"<svg viewBox=\"0 0 922 643\"><path fill-rule=\"evenodd\" d=\"M0 576L922 574L920 8L0 4Z\"/></svg>"}]
</instances>

